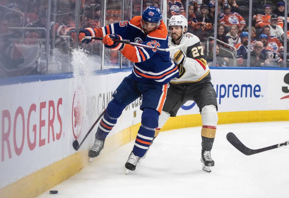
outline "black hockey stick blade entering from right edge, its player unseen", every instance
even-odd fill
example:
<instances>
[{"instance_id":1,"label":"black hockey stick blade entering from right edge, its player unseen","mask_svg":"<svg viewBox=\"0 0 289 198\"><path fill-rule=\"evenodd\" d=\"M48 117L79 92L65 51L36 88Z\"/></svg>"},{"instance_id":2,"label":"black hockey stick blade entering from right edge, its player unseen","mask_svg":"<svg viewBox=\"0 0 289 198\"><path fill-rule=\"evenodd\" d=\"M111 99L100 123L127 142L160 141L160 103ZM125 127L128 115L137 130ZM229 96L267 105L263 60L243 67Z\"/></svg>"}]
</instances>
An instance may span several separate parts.
<instances>
[{"instance_id":1,"label":"black hockey stick blade entering from right edge, its player unseen","mask_svg":"<svg viewBox=\"0 0 289 198\"><path fill-rule=\"evenodd\" d=\"M238 149L240 152L242 152L242 153L245 154L245 155L253 155L253 154L256 154L256 153L263 152L263 151L268 151L268 150L271 150L271 149L277 149L277 148L279 148L279 147L289 145L289 141L287 141L287 142L282 142L282 143L280 143L280 144L275 144L275 145L268 146L268 147L261 148L261 149L249 149L248 147L246 147L246 146L236 137L236 135L235 135L234 133L231 133L231 132L227 134L227 140L228 140L236 149Z\"/></svg>"}]
</instances>

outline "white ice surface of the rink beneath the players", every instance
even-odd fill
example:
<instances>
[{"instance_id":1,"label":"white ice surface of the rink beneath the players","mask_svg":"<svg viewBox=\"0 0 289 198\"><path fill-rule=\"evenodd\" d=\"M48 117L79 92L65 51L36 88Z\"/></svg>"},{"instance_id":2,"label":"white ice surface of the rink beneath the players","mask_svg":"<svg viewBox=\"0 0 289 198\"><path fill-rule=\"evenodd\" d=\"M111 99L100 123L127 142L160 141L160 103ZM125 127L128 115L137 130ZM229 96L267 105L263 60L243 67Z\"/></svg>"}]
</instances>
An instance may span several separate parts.
<instances>
[{"instance_id":1,"label":"white ice surface of the rink beneath the players","mask_svg":"<svg viewBox=\"0 0 289 198\"><path fill-rule=\"evenodd\" d=\"M165 131L146 158L125 175L134 141L99 156L78 174L39 197L289 197L289 146L246 156L226 139L234 134L250 149L289 140L289 122L218 125L212 172L202 170L201 127Z\"/></svg>"}]
</instances>

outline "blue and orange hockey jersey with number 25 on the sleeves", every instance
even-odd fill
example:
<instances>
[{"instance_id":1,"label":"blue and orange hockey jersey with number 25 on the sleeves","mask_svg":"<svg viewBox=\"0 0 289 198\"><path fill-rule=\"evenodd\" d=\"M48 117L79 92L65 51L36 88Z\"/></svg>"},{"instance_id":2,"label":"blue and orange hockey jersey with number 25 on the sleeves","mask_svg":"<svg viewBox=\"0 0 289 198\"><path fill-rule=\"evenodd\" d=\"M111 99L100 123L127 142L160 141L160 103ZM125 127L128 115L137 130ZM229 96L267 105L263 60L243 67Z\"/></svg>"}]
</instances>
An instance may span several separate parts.
<instances>
[{"instance_id":1,"label":"blue and orange hockey jersey with number 25 on the sleeves","mask_svg":"<svg viewBox=\"0 0 289 198\"><path fill-rule=\"evenodd\" d=\"M161 21L160 26L146 35L141 26L141 16L101 28L103 36L118 34L123 39L158 48L168 48L168 32ZM134 63L132 77L146 83L167 84L179 76L179 70L170 60L170 53L126 44L121 53Z\"/></svg>"}]
</instances>

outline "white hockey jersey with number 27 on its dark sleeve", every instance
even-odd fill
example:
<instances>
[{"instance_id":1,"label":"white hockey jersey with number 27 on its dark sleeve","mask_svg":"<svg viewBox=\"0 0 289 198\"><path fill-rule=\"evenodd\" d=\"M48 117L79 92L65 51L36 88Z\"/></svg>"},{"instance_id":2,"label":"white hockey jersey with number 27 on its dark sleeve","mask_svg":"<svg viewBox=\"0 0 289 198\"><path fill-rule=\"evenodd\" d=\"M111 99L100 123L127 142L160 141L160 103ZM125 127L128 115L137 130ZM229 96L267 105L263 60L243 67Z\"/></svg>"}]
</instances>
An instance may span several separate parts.
<instances>
[{"instance_id":1,"label":"white hockey jersey with number 27 on its dark sleeve","mask_svg":"<svg viewBox=\"0 0 289 198\"><path fill-rule=\"evenodd\" d=\"M206 76L208 76L210 80L210 75L208 75L210 69L207 65L200 39L191 33L186 33L183 36L180 45L183 43L186 44L181 46L180 50L183 51L185 61L183 65L178 65L180 72L179 77L173 78L170 83L191 84L199 82ZM169 45L177 46L172 42L171 38L169 39Z\"/></svg>"}]
</instances>

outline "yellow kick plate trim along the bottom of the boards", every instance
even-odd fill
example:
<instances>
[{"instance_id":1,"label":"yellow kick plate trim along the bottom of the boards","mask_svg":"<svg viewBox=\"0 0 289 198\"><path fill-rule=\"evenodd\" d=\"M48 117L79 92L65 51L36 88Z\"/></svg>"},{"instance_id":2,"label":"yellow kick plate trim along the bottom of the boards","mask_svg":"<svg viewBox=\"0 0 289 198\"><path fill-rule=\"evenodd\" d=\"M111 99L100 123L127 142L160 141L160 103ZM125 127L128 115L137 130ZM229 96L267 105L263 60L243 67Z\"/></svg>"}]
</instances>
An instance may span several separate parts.
<instances>
[{"instance_id":1,"label":"yellow kick plate trim along the bottom of the boards","mask_svg":"<svg viewBox=\"0 0 289 198\"><path fill-rule=\"evenodd\" d=\"M289 121L288 115L289 110L220 112L218 113L218 125L242 122ZM135 140L139 126L140 123L106 138L105 149L103 149L102 155ZM202 126L200 114L170 117L161 131L195 126ZM87 153L87 150L76 152L73 155L25 176L1 188L0 195L1 197L37 196L73 176L84 166L87 166L89 163Z\"/></svg>"}]
</instances>

